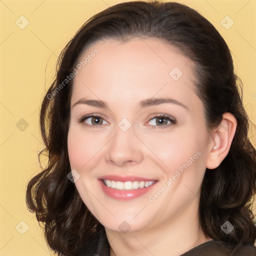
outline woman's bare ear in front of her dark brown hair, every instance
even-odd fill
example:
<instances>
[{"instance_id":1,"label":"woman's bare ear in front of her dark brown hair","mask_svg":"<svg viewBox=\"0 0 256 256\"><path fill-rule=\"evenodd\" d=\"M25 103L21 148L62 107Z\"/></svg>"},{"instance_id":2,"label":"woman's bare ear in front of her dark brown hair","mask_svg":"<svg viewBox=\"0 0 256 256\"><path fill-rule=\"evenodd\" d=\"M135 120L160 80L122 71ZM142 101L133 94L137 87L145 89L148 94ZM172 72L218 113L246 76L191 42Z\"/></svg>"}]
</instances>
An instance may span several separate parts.
<instances>
[{"instance_id":1,"label":"woman's bare ear in front of her dark brown hair","mask_svg":"<svg viewBox=\"0 0 256 256\"><path fill-rule=\"evenodd\" d=\"M231 113L223 113L222 121L214 130L206 158L208 169L216 168L226 157L234 137L237 121Z\"/></svg>"}]
</instances>

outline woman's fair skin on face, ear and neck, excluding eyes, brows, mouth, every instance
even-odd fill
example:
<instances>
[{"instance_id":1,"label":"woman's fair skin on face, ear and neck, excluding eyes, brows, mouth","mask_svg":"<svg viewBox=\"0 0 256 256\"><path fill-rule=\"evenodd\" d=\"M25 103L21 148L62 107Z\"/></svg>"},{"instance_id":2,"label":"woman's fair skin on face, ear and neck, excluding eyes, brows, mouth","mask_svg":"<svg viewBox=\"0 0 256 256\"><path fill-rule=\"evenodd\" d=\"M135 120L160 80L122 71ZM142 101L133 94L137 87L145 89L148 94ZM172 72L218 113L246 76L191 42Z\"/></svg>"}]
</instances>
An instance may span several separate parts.
<instances>
[{"instance_id":1,"label":"woman's fair skin on face, ear and neck, excluding eyes, brows, mouth","mask_svg":"<svg viewBox=\"0 0 256 256\"><path fill-rule=\"evenodd\" d=\"M80 175L75 186L105 227L110 255L174 256L210 240L198 223L200 185L205 168L217 167L226 156L235 118L224 113L221 125L208 131L202 102L194 92L192 61L158 39L97 41L81 60L94 48L98 54L74 77L67 142L71 169ZM169 75L174 67L183 73L177 80ZM73 106L85 97L104 100L108 108ZM140 100L152 97L170 97L186 108L174 103L139 107ZM78 122L89 114L100 115L101 124L92 127L96 123L91 118ZM151 119L161 114L176 122ZM127 131L118 126L123 118L131 124ZM149 201L198 151L197 159ZM122 201L104 194L97 180L102 175L136 175L158 182L148 193ZM130 227L127 233L118 227L123 221Z\"/></svg>"}]
</instances>

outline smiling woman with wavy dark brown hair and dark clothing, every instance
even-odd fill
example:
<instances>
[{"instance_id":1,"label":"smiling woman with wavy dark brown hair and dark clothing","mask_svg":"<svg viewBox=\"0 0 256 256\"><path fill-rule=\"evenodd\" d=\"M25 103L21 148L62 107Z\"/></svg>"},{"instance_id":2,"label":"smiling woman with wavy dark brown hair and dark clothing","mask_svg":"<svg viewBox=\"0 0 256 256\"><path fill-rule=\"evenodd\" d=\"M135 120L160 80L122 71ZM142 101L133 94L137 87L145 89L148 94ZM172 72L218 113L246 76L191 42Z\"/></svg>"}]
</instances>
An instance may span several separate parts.
<instances>
[{"instance_id":1,"label":"smiling woman with wavy dark brown hair and dark clothing","mask_svg":"<svg viewBox=\"0 0 256 256\"><path fill-rule=\"evenodd\" d=\"M229 49L195 10L132 1L62 51L26 203L58 255L255 255L256 151ZM41 152L42 153L42 152Z\"/></svg>"}]
</instances>

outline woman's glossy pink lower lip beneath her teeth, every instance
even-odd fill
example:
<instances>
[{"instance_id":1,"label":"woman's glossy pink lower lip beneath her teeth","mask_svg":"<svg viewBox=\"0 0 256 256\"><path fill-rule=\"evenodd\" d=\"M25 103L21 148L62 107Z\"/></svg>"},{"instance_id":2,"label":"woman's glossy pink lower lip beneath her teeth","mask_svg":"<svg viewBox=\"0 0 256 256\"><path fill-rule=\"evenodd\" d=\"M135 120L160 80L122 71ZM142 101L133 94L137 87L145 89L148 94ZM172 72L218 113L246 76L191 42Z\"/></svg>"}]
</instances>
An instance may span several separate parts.
<instances>
[{"instance_id":1,"label":"woman's glossy pink lower lip beneath her teeth","mask_svg":"<svg viewBox=\"0 0 256 256\"><path fill-rule=\"evenodd\" d=\"M109 197L118 199L118 200L132 200L134 198L137 198L147 193L154 186L154 184L157 183L157 181L155 181L152 185L143 187L143 188L137 188L137 189L131 189L131 190L118 190L103 184L102 179L98 179L98 180L102 187L103 192Z\"/></svg>"}]
</instances>

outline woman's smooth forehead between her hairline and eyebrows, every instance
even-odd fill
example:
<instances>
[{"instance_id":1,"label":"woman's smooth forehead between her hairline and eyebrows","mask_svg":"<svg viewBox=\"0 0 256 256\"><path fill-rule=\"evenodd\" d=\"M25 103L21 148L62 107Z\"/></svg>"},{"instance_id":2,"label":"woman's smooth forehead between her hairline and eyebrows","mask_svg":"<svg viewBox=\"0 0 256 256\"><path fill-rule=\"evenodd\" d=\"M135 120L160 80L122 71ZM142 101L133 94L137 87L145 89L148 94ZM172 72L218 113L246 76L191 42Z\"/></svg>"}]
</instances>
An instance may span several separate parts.
<instances>
[{"instance_id":1,"label":"woman's smooth forehead between her hairline and eyebrows","mask_svg":"<svg viewBox=\"0 0 256 256\"><path fill-rule=\"evenodd\" d=\"M184 100L189 99L187 94L197 97L193 90L193 62L158 39L97 41L77 63L81 64L76 68L71 104L82 96L119 99L120 103L154 95L185 97Z\"/></svg>"}]
</instances>

